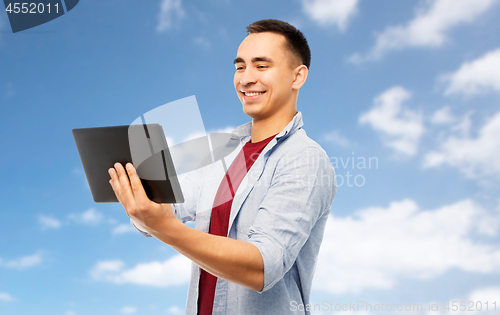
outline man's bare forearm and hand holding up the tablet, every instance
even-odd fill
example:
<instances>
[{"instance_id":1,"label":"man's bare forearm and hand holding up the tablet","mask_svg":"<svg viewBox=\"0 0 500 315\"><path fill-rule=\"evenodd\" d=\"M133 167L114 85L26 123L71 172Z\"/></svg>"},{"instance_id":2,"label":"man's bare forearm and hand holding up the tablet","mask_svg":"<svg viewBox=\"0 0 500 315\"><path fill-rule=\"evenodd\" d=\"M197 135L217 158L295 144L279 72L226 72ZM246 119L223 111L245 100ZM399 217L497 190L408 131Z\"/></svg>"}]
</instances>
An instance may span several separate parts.
<instances>
[{"instance_id":1,"label":"man's bare forearm and hand holding up the tablet","mask_svg":"<svg viewBox=\"0 0 500 315\"><path fill-rule=\"evenodd\" d=\"M149 200L139 176L127 163L109 169L109 181L118 201L136 226L216 277L260 291L264 287L264 261L259 249L244 241L217 236L182 224L169 204ZM127 176L128 174L128 176Z\"/></svg>"}]
</instances>

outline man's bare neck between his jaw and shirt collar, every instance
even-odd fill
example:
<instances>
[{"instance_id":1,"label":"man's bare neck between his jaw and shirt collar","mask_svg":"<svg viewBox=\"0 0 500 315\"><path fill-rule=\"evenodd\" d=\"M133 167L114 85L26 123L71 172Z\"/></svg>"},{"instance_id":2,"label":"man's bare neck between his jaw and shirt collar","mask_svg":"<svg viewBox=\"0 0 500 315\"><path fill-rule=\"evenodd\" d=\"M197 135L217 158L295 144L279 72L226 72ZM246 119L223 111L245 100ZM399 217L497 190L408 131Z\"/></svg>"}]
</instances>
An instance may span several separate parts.
<instances>
[{"instance_id":1,"label":"man's bare neck between his jaw and shirt collar","mask_svg":"<svg viewBox=\"0 0 500 315\"><path fill-rule=\"evenodd\" d=\"M295 108L290 109L286 112L282 112L279 115L274 115L272 117L252 121L252 143L262 141L269 138L272 135L279 133L292 121L293 117L297 114Z\"/></svg>"}]
</instances>

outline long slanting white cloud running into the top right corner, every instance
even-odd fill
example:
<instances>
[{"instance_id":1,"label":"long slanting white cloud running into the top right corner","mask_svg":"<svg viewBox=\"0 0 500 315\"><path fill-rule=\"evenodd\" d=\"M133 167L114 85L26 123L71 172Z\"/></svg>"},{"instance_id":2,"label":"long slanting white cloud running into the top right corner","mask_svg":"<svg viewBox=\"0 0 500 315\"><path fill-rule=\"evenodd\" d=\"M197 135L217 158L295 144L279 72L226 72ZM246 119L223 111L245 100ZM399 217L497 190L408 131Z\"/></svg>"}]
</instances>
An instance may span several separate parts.
<instances>
[{"instance_id":1,"label":"long slanting white cloud running into the top right corner","mask_svg":"<svg viewBox=\"0 0 500 315\"><path fill-rule=\"evenodd\" d=\"M411 21L388 27L377 35L375 46L367 54L354 54L350 61L380 59L389 51L411 47L440 47L453 28L474 22L495 2L497 0L424 1Z\"/></svg>"}]
</instances>

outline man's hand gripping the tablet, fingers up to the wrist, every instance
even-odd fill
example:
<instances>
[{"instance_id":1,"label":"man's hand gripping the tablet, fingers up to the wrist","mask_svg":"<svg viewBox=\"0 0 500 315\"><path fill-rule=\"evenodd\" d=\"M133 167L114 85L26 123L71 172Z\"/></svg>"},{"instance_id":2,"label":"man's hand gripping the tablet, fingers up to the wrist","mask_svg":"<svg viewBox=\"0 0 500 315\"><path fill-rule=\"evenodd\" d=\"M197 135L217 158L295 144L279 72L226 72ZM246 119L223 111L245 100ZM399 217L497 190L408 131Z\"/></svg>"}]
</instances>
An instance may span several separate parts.
<instances>
[{"instance_id":1,"label":"man's hand gripping the tablet, fingers up to the wrist","mask_svg":"<svg viewBox=\"0 0 500 315\"><path fill-rule=\"evenodd\" d=\"M156 234L169 224L178 222L169 204L158 204L148 198L131 163L127 163L126 170L121 163L115 163L114 168L109 169L109 175L109 183L118 201L139 229Z\"/></svg>"}]
</instances>

